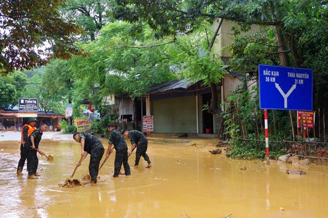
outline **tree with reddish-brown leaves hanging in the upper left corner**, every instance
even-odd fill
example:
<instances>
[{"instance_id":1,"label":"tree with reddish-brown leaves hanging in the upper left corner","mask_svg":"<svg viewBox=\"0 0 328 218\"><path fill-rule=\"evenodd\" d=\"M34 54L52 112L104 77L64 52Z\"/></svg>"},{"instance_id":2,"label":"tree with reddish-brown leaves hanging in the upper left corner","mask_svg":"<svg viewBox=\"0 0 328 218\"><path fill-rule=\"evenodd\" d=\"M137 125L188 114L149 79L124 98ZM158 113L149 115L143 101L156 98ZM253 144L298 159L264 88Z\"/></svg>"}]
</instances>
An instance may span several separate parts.
<instances>
[{"instance_id":1,"label":"tree with reddish-brown leaves hanging in the upper left corner","mask_svg":"<svg viewBox=\"0 0 328 218\"><path fill-rule=\"evenodd\" d=\"M32 69L45 64L51 57L69 59L72 54L81 54L71 37L80 30L71 20L60 18L57 10L64 2L65 0L1 1L1 74Z\"/></svg>"}]
</instances>

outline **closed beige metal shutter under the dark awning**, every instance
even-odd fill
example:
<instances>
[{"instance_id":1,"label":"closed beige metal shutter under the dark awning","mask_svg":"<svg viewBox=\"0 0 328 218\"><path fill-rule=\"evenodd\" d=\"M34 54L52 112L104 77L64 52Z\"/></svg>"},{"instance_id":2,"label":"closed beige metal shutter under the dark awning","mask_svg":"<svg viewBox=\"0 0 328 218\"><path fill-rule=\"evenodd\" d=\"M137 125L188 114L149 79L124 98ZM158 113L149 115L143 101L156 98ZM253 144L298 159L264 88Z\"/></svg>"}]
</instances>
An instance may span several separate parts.
<instances>
[{"instance_id":1,"label":"closed beige metal shutter under the dark awning","mask_svg":"<svg viewBox=\"0 0 328 218\"><path fill-rule=\"evenodd\" d=\"M197 133L196 97L152 101L154 133Z\"/></svg>"}]
</instances>

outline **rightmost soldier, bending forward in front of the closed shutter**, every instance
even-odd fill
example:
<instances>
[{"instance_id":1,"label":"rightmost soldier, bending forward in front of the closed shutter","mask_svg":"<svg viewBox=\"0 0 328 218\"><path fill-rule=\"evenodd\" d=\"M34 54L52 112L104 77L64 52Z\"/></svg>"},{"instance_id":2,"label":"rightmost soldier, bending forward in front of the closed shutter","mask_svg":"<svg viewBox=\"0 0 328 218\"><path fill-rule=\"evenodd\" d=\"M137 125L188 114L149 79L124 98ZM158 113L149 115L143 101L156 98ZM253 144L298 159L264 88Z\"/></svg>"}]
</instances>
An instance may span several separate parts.
<instances>
[{"instance_id":1,"label":"rightmost soldier, bending forward in front of the closed shutter","mask_svg":"<svg viewBox=\"0 0 328 218\"><path fill-rule=\"evenodd\" d=\"M129 137L131 141L131 150L129 151L129 156L132 154L132 151L135 147L137 147L137 151L135 152L135 163L134 166L138 166L141 156L144 157L145 161L147 161L147 168L152 166L148 155L146 154L148 148L148 139L144 134L139 132L138 130L122 130L122 135L125 137Z\"/></svg>"}]
</instances>

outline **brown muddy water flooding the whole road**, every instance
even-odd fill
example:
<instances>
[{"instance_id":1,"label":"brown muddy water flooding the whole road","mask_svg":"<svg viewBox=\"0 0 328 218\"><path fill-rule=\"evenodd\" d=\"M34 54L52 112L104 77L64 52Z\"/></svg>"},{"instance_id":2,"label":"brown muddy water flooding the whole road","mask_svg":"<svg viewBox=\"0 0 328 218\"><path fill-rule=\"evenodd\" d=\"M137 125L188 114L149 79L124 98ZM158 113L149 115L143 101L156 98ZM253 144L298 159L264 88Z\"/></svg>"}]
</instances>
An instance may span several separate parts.
<instances>
[{"instance_id":1,"label":"brown muddy water flooding the whole road","mask_svg":"<svg viewBox=\"0 0 328 218\"><path fill-rule=\"evenodd\" d=\"M99 171L97 186L65 188L60 184L79 160L78 143L42 140L40 149L54 161L38 155L42 176L30 180L26 170L16 176L18 141L1 141L0 217L328 216L327 167L232 160L210 154L215 142L150 139L147 153L152 168L146 168L143 159L133 168L134 152L129 158L131 176L112 178L113 153ZM107 149L107 141L103 144ZM89 159L74 178L88 173ZM306 175L288 175L287 169L301 169Z\"/></svg>"}]
</instances>

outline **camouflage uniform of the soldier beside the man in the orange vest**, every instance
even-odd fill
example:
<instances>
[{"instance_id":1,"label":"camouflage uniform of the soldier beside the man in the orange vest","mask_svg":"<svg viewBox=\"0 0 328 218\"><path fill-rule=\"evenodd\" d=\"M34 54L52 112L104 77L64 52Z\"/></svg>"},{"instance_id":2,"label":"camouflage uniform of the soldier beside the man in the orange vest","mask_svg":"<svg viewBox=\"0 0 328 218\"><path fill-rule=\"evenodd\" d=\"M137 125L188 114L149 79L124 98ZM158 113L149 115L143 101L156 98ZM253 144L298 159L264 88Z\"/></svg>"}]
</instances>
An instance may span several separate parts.
<instances>
[{"instance_id":1,"label":"camouflage uniform of the soldier beside the man in the orange vest","mask_svg":"<svg viewBox=\"0 0 328 218\"><path fill-rule=\"evenodd\" d=\"M29 170L29 176L32 176L36 173L37 166L39 164L39 160L36 155L36 150L34 150L32 146L31 136L34 137L34 146L35 148L39 147L39 143L42 138L42 131L40 128L37 128L31 133L28 138L27 144L25 144L27 150L27 169Z\"/></svg>"}]
</instances>

